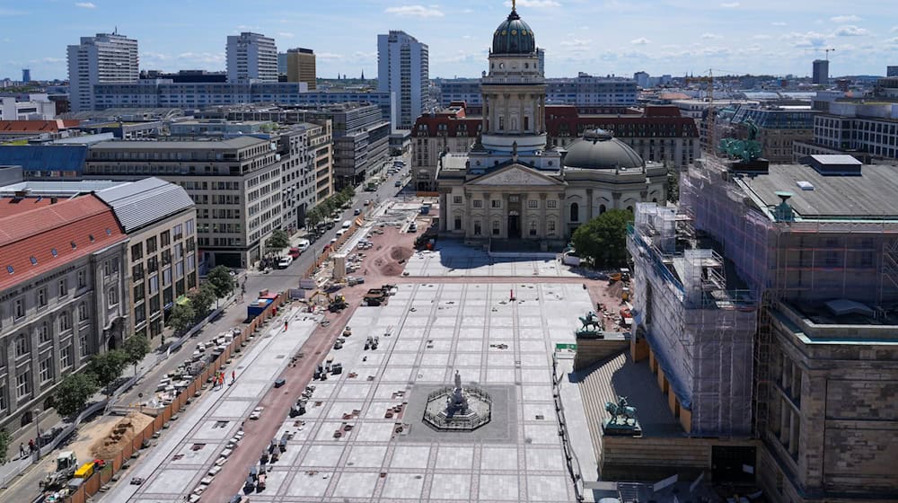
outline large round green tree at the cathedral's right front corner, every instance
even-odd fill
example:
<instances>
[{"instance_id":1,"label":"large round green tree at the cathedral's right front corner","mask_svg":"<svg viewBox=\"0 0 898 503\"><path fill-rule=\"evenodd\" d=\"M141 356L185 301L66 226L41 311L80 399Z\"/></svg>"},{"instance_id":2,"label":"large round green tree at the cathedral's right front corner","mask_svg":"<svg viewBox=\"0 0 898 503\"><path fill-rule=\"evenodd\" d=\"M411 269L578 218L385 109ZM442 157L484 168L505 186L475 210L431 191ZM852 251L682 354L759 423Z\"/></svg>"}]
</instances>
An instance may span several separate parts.
<instances>
[{"instance_id":1,"label":"large round green tree at the cathedral's right front corner","mask_svg":"<svg viewBox=\"0 0 898 503\"><path fill-rule=\"evenodd\" d=\"M627 224L632 221L629 211L612 209L577 227L571 241L595 267L620 267L627 263Z\"/></svg>"}]
</instances>

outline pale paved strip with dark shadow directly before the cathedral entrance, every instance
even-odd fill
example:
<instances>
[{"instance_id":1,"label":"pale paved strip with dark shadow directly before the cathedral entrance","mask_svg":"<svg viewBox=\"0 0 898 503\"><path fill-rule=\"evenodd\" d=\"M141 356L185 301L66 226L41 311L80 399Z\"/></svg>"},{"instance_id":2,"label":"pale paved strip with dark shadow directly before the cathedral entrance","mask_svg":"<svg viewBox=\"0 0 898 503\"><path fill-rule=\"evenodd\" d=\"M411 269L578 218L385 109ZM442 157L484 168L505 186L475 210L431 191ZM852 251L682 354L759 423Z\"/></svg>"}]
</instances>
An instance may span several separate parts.
<instances>
[{"instance_id":1,"label":"pale paved strip with dark shadow directly before the cathedral entrance","mask_svg":"<svg viewBox=\"0 0 898 503\"><path fill-rule=\"evenodd\" d=\"M559 277L574 278L568 266L559 260L549 258L528 258L527 256L490 257L487 252L465 246L453 240L437 242L433 252L417 252L409 259L405 272L409 276L458 276L458 277ZM582 314L582 313L581 313Z\"/></svg>"}]
</instances>

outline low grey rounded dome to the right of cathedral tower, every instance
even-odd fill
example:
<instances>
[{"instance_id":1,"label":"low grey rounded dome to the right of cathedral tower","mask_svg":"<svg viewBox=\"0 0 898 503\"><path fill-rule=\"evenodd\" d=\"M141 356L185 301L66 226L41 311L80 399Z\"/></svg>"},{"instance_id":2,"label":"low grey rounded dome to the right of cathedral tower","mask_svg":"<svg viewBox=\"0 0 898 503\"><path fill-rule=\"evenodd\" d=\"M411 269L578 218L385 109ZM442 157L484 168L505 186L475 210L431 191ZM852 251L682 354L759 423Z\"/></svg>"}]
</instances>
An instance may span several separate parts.
<instances>
[{"instance_id":1,"label":"low grey rounded dome to the right of cathedral tower","mask_svg":"<svg viewBox=\"0 0 898 503\"><path fill-rule=\"evenodd\" d=\"M641 168L645 163L639 154L610 131L596 129L586 131L582 138L568 146L564 165L583 170L613 170Z\"/></svg>"}]
</instances>

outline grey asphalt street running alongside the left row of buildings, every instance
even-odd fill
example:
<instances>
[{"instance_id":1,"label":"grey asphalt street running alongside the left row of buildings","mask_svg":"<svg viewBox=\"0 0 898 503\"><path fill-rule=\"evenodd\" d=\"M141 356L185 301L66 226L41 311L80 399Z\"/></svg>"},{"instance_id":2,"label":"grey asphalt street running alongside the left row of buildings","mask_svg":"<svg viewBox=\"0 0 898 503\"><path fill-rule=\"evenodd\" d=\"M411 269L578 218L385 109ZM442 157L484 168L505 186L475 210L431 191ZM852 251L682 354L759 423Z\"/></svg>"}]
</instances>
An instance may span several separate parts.
<instances>
[{"instance_id":1,"label":"grey asphalt street running alongside the left row of buildings","mask_svg":"<svg viewBox=\"0 0 898 503\"><path fill-rule=\"evenodd\" d=\"M390 158L389 165L392 165L394 159L400 159L400 157ZM361 188L356 190L356 196L353 199L352 204L347 210L343 211L340 216L341 222L354 218L353 211L357 207L364 208L363 202L365 199L371 199L372 207L374 207L375 201L384 201L392 198L404 189L404 186L403 188L395 187L395 182L397 180L406 180L406 174L409 173L411 159L408 154L401 157L401 159L405 161L406 168L401 172L390 176L386 181L383 181L377 187L376 191L365 192ZM383 169L383 174L386 173L386 169L387 168ZM246 295L243 296L243 299L228 307L225 313L222 313L215 322L209 323L199 332L197 337L185 341L184 345L181 346L178 351L172 352L172 355L166 358L158 366L155 366L154 369L147 373L133 388L131 388L130 391L128 391L128 393L124 393L119 398L118 405L128 406L128 404L144 402L148 397L153 396L156 390L156 384L159 383L163 375L172 372L180 366L180 364L193 353L193 350L196 349L199 342L212 340L216 338L219 333L227 331L234 326L241 325L246 319L247 305L255 300L256 295L260 290L268 288L271 291L280 292L286 291L288 288L298 287L299 279L302 278L305 271L312 266L315 258L321 256L324 247L330 243L331 238L336 236L338 230L339 225L334 225L334 228L323 234L321 238L313 243L308 250L300 255L298 259L294 260L294 262L290 264L290 267L286 269L274 269L267 274L260 271L248 271L245 276ZM65 448L65 446L63 446L63 448ZM16 501L22 503L36 499L40 494L39 482L49 470L50 465L48 464L48 460L55 459L57 452L45 456L41 463L35 465L35 467L32 467L28 472L25 472L22 476L13 481L10 484L10 487L2 492L2 498L0 499L3 501Z\"/></svg>"}]
</instances>

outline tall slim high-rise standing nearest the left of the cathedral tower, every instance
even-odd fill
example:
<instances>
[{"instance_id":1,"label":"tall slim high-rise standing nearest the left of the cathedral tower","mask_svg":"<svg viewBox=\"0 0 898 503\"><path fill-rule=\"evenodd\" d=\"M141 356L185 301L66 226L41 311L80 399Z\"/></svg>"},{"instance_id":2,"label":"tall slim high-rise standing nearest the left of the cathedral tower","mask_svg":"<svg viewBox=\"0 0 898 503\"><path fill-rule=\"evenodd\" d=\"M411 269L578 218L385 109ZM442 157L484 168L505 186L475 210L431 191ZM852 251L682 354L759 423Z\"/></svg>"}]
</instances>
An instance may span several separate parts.
<instances>
[{"instance_id":1,"label":"tall slim high-rise standing nearest the left of the cathedral tower","mask_svg":"<svg viewBox=\"0 0 898 503\"><path fill-rule=\"evenodd\" d=\"M425 110L430 82L427 44L405 31L377 36L377 90L396 93L393 128L410 129Z\"/></svg>"}]
</instances>

